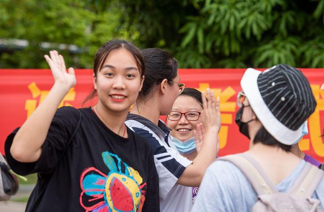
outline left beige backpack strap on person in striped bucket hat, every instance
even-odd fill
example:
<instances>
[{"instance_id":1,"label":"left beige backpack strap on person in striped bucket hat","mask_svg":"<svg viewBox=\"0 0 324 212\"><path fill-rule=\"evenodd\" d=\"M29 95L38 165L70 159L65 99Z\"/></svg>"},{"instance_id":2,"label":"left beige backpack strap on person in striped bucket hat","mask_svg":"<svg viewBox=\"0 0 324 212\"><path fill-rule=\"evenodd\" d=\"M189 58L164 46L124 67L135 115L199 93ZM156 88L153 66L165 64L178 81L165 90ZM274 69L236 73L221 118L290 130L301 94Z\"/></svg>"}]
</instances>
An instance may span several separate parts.
<instances>
[{"instance_id":1,"label":"left beige backpack strap on person in striped bucket hat","mask_svg":"<svg viewBox=\"0 0 324 212\"><path fill-rule=\"evenodd\" d=\"M247 154L226 155L217 160L229 161L236 165L249 180L258 195L276 193L277 189L273 186L261 166Z\"/></svg>"}]
</instances>

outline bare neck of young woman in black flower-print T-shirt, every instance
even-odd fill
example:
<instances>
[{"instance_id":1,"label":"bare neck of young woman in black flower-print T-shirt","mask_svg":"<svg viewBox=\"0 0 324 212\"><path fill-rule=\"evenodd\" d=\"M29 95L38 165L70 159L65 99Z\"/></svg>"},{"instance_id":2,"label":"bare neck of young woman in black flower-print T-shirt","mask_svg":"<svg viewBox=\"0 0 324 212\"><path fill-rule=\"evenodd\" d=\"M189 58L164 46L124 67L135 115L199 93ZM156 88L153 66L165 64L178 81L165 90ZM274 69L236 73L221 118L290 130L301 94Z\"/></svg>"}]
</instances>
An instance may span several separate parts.
<instances>
[{"instance_id":1,"label":"bare neck of young woman in black flower-print T-shirt","mask_svg":"<svg viewBox=\"0 0 324 212\"><path fill-rule=\"evenodd\" d=\"M100 102L93 107L98 118L114 133L123 136L127 135L125 132L125 119L128 111L120 113L107 110ZM127 130L126 130L127 131ZM125 137L125 136L124 136Z\"/></svg>"}]
</instances>

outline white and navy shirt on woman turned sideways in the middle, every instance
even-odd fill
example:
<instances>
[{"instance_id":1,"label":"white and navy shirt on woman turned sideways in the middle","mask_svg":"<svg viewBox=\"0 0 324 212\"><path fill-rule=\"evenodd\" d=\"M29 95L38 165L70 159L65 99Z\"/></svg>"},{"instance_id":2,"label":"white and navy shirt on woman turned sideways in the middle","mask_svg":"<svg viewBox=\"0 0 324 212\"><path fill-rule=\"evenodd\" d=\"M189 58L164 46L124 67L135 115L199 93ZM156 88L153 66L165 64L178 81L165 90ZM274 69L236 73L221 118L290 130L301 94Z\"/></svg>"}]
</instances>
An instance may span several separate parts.
<instances>
[{"instance_id":1,"label":"white and navy shirt on woman turned sideways in the middle","mask_svg":"<svg viewBox=\"0 0 324 212\"><path fill-rule=\"evenodd\" d=\"M169 128L159 120L159 126L147 118L129 114L126 125L144 137L153 149L154 162L159 174L160 211L190 212L192 187L176 184L192 162L180 155L169 136Z\"/></svg>"}]
</instances>

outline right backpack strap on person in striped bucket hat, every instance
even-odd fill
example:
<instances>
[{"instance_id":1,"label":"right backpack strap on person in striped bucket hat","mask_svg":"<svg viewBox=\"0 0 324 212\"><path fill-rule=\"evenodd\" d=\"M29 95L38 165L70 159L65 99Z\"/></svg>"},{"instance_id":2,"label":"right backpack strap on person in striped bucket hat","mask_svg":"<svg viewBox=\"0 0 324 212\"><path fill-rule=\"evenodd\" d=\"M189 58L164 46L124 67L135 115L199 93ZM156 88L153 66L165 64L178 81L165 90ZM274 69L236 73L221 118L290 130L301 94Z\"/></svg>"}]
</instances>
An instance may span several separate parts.
<instances>
[{"instance_id":1,"label":"right backpack strap on person in striped bucket hat","mask_svg":"<svg viewBox=\"0 0 324 212\"><path fill-rule=\"evenodd\" d=\"M324 171L306 162L289 193L299 197L310 198L323 179Z\"/></svg>"}]
</instances>

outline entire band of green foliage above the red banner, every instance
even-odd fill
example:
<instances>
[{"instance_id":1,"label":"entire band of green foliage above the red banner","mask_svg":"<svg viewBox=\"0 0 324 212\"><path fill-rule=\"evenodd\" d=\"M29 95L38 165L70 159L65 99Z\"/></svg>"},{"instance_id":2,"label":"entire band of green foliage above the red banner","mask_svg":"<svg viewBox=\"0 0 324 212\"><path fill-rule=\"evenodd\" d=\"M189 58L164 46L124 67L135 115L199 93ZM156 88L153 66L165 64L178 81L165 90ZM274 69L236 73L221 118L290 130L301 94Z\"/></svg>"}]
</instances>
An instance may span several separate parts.
<instances>
[{"instance_id":1,"label":"entire band of green foliage above the red banner","mask_svg":"<svg viewBox=\"0 0 324 212\"><path fill-rule=\"evenodd\" d=\"M324 0L0 0L0 39L30 45L0 68L47 68L40 42L73 44L67 64L91 68L111 38L160 47L181 68L324 67Z\"/></svg>"}]
</instances>

